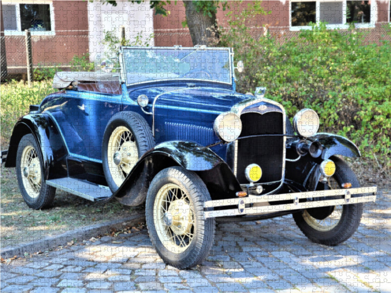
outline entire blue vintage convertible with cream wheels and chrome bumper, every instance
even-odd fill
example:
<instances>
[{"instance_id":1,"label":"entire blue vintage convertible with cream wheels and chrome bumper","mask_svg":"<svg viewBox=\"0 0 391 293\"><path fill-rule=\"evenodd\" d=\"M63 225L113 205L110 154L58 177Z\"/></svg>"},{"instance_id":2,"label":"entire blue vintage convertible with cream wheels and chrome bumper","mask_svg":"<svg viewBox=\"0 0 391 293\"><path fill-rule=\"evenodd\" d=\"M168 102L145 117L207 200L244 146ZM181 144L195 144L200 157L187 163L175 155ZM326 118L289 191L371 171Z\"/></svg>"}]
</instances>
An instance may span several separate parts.
<instances>
[{"instance_id":1,"label":"entire blue vintage convertible with cream wheels and chrome bumper","mask_svg":"<svg viewBox=\"0 0 391 293\"><path fill-rule=\"evenodd\" d=\"M348 139L317 133L303 109L236 92L231 48L121 47L119 68L59 72L60 89L16 123L5 167L33 209L62 189L91 201L145 203L152 244L180 269L208 254L221 221L293 214L312 241L357 229L376 187L359 187ZM116 71L116 72L115 72Z\"/></svg>"}]
</instances>

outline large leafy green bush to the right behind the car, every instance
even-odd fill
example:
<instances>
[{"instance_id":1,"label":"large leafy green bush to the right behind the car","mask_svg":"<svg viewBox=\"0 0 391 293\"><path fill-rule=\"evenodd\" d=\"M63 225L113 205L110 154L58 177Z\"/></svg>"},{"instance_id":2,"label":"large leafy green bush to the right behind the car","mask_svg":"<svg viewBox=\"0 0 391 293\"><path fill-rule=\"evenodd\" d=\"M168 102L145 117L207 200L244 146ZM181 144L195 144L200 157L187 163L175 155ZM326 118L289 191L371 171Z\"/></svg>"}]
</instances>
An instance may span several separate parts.
<instances>
[{"instance_id":1,"label":"large leafy green bush to the right behind the car","mask_svg":"<svg viewBox=\"0 0 391 293\"><path fill-rule=\"evenodd\" d=\"M235 59L245 63L245 72L237 74L238 90L266 86L266 97L282 103L290 117L313 108L320 131L347 136L390 174L390 42L368 43L368 32L354 26L330 30L325 23L290 40L254 37L245 25L252 18L251 11L243 11L221 35L221 44L234 47Z\"/></svg>"}]
</instances>

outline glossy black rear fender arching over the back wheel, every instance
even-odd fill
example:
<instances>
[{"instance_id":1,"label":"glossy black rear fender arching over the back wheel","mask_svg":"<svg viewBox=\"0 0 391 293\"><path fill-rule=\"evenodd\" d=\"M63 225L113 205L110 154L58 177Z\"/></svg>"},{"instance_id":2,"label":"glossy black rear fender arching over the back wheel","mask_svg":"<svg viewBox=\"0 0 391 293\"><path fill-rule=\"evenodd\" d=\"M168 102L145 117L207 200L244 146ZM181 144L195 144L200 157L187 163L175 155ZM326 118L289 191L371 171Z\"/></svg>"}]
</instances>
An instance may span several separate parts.
<instances>
[{"instance_id":1,"label":"glossy black rear fender arching over the back wheel","mask_svg":"<svg viewBox=\"0 0 391 293\"><path fill-rule=\"evenodd\" d=\"M34 135L41 148L45 179L66 177L68 151L59 129L47 114L28 114L18 120L12 130L5 167L16 167L19 142L29 133Z\"/></svg>"}]
</instances>

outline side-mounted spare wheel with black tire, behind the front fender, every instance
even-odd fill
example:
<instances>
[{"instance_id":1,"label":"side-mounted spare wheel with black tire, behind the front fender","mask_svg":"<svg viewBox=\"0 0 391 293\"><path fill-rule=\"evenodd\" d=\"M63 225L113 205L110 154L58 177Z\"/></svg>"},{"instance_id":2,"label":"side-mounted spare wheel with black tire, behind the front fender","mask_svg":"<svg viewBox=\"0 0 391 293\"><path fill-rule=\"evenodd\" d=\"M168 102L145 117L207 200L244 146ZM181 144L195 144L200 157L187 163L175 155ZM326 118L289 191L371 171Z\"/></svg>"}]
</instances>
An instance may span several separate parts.
<instances>
[{"instance_id":1,"label":"side-mounted spare wheel with black tire, behind the front fender","mask_svg":"<svg viewBox=\"0 0 391 293\"><path fill-rule=\"evenodd\" d=\"M116 138L119 138L117 142ZM121 186L138 159L153 146L151 127L140 114L123 111L110 118L103 135L102 161L112 192Z\"/></svg>"}]
</instances>

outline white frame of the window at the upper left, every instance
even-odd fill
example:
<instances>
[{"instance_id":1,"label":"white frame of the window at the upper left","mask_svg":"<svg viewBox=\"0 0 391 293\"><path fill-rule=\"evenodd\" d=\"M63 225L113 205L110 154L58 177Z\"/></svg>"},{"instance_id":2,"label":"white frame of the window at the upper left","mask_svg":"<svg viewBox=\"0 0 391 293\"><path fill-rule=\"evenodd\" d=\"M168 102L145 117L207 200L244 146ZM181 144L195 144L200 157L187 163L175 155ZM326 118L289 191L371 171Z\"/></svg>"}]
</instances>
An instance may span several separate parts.
<instances>
[{"instance_id":1,"label":"white frame of the window at the upper left","mask_svg":"<svg viewBox=\"0 0 391 293\"><path fill-rule=\"evenodd\" d=\"M16 9L16 26L17 30L5 30L4 29L4 35L5 36L24 36L25 32L22 31L21 27L21 12L19 8L19 4L46 4L49 5L49 11L50 11L50 29L49 31L33 31L30 30L31 35L35 36L53 36L56 34L55 29L55 21L54 21L54 8L53 8L53 1L46 1L46 0L24 0L24 1L1 1L2 5L14 5ZM1 11L1 13L3 13Z\"/></svg>"}]
</instances>

